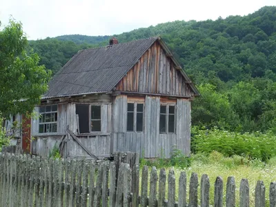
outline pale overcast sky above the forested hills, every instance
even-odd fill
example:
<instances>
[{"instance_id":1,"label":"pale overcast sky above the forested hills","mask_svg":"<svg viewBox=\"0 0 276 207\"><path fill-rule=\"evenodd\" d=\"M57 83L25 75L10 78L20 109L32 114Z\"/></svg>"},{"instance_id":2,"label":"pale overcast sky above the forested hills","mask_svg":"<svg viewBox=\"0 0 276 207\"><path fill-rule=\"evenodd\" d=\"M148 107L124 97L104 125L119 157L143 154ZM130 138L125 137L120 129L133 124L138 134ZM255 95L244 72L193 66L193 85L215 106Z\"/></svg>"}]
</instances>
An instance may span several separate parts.
<instances>
[{"instance_id":1,"label":"pale overcast sky above the forested hills","mask_svg":"<svg viewBox=\"0 0 276 207\"><path fill-rule=\"evenodd\" d=\"M63 34L112 35L175 20L247 15L275 0L0 0L1 29L10 17L28 39Z\"/></svg>"}]
</instances>

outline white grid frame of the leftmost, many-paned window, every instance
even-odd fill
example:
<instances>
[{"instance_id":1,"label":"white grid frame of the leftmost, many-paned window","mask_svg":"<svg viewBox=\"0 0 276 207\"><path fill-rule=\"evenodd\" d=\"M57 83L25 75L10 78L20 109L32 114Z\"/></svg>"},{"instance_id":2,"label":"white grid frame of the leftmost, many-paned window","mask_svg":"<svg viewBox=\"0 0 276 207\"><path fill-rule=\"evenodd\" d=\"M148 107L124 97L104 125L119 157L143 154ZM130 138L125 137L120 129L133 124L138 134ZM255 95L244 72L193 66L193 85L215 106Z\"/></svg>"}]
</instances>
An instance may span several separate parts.
<instances>
[{"instance_id":1,"label":"white grid frame of the leftmost, many-paned window","mask_svg":"<svg viewBox=\"0 0 276 207\"><path fill-rule=\"evenodd\" d=\"M49 112L46 112L46 107L47 106L51 107L51 110ZM57 106L57 110L52 110L52 106ZM43 112L41 112L41 107L45 108ZM58 110L58 108L59 108L58 104L49 104L49 105L47 104L47 105L41 105L41 106L38 107L38 112L39 112L38 133L39 133L39 135L56 134L56 133L59 132L59 127L58 127L59 126L59 124L58 124L58 122L59 122L59 110ZM47 121L47 122L44 121L44 122L40 122L41 121L41 116L46 115L46 114L54 114L54 116L55 116L55 113L57 113L57 121ZM51 131L50 132L44 132L45 127L46 127L47 124L51 124ZM52 131L52 124L57 124L57 131L55 131L55 132ZM39 130L39 128L40 128L41 125L43 125L43 132L40 132L40 130Z\"/></svg>"}]
</instances>

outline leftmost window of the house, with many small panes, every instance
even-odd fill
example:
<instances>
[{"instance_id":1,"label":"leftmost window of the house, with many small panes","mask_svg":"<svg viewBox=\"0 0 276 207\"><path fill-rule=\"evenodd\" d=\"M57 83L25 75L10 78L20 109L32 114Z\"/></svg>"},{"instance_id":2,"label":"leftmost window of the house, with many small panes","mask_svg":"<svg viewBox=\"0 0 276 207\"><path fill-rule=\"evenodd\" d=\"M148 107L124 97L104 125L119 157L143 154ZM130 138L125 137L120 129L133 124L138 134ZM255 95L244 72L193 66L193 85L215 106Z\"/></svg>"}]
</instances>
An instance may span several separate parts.
<instances>
[{"instance_id":1,"label":"leftmost window of the house, with many small panes","mask_svg":"<svg viewBox=\"0 0 276 207\"><path fill-rule=\"evenodd\" d=\"M39 133L57 132L57 105L39 107Z\"/></svg>"}]
</instances>

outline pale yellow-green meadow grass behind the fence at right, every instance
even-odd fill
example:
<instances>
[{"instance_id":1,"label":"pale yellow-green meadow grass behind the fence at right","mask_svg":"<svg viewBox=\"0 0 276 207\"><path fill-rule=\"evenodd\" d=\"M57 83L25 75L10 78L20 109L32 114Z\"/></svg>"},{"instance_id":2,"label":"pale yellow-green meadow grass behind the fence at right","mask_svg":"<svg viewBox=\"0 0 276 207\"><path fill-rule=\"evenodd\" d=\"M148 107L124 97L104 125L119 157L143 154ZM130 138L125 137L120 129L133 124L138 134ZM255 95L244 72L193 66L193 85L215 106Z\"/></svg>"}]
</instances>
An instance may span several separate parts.
<instances>
[{"instance_id":1,"label":"pale yellow-green meadow grass behind the fence at right","mask_svg":"<svg viewBox=\"0 0 276 207\"><path fill-rule=\"evenodd\" d=\"M159 166L160 167L160 166ZM234 155L233 157L224 157L219 152L212 152L210 155L192 155L190 157L190 166L186 168L172 167L175 171L176 188L178 189L178 179L181 171L187 175L187 194L189 179L192 172L196 172L199 178L207 174L210 179L210 205L214 202L214 185L217 176L223 178L224 181L224 206L226 195L226 182L229 176L235 177L236 184L236 205L239 206L239 183L241 179L248 179L250 188L250 206L255 204L255 186L258 180L264 181L266 186L266 206L269 206L269 186L271 181L276 181L276 157L264 163L258 159L250 160L246 157ZM168 170L166 168L167 176ZM157 181L158 183L158 181ZM158 187L157 187L158 188ZM166 186L168 188L168 186ZM200 203L200 186L199 186L199 203ZM168 191L168 189L167 189ZM157 191L158 192L158 191ZM178 190L176 190L176 199L178 200ZM187 195L188 199L188 195Z\"/></svg>"}]
</instances>

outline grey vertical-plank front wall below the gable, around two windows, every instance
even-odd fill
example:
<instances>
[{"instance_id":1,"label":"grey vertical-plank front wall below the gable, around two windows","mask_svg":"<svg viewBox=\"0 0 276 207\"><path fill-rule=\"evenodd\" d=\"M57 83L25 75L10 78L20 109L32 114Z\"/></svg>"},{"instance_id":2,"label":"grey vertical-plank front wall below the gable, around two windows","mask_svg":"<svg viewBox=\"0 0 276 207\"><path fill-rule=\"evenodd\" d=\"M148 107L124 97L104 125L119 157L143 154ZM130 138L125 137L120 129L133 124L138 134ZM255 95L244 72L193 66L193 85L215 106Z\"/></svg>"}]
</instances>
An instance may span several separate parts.
<instances>
[{"instance_id":1,"label":"grey vertical-plank front wall below the gable, around two windows","mask_svg":"<svg viewBox=\"0 0 276 207\"><path fill-rule=\"evenodd\" d=\"M178 148L185 155L190 152L190 101L188 99L160 99L146 96L144 99L144 131L127 132L128 97L115 98L112 111L112 151L139 152L144 157L169 158L173 148ZM175 133L159 133L160 102L175 101Z\"/></svg>"}]
</instances>

